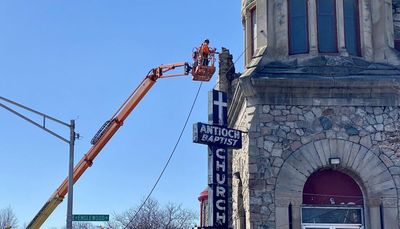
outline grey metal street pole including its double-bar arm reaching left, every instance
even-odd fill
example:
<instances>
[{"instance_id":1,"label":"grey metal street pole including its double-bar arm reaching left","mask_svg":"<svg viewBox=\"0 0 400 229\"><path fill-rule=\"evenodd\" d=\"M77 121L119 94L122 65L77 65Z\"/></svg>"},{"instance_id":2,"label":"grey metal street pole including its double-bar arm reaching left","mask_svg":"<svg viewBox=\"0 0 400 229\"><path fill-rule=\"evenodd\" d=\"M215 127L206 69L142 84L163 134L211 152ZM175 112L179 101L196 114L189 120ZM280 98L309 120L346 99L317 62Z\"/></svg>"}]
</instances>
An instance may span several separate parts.
<instances>
[{"instance_id":1,"label":"grey metal street pole including its double-bar arm reaching left","mask_svg":"<svg viewBox=\"0 0 400 229\"><path fill-rule=\"evenodd\" d=\"M6 101L8 103L11 103L17 107L20 107L24 110L27 110L31 113L34 113L36 115L42 116L43 118L43 123L38 123L21 113L11 109L10 107L4 105L3 103L0 103L0 107L3 107L4 109L10 111L11 113L17 115L18 117L30 122L31 124L35 125L36 127L39 127L40 129L46 131L47 133L55 136L56 138L66 142L69 144L69 167L68 167L68 205L67 205L67 229L72 229L72 207L73 207L73 186L74 186L74 180L73 180L73 171L74 171L74 147L75 147L75 139L79 138L79 134L75 133L75 120L70 120L70 124L65 123L63 121L60 121L56 118L53 118L49 115L46 115L44 113L41 113L39 111L33 110L32 108L26 107L24 105L21 105L17 102L14 102L12 100L6 99L4 97L0 96L0 100ZM69 140L65 139L64 137L60 136L59 134L55 133L54 131L48 129L46 127L46 119L49 119L51 121L54 121L56 123L59 123L61 125L64 125L70 129L70 138Z\"/></svg>"}]
</instances>

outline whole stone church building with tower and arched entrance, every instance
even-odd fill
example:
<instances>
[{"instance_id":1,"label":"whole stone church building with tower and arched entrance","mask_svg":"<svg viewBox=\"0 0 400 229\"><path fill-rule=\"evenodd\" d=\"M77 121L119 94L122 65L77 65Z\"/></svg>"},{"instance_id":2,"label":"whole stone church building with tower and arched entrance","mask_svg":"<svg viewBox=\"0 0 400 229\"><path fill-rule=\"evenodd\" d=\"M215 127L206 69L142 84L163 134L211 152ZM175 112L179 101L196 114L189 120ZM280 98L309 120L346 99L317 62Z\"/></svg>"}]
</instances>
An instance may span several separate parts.
<instances>
[{"instance_id":1,"label":"whole stone church building with tower and arched entrance","mask_svg":"<svg viewBox=\"0 0 400 229\"><path fill-rule=\"evenodd\" d=\"M217 86L244 132L232 227L399 229L400 1L241 4L245 70L222 52Z\"/></svg>"}]
</instances>

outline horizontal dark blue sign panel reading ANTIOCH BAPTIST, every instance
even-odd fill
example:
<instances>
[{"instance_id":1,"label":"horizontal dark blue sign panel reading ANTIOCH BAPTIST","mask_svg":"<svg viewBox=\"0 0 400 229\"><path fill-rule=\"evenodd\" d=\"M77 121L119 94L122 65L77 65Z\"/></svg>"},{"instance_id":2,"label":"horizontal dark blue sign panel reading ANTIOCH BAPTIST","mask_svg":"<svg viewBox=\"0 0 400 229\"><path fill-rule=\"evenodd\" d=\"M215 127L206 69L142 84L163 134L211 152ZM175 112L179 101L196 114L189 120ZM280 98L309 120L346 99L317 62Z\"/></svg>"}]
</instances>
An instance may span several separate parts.
<instances>
[{"instance_id":1,"label":"horizontal dark blue sign panel reading ANTIOCH BAPTIST","mask_svg":"<svg viewBox=\"0 0 400 229\"><path fill-rule=\"evenodd\" d=\"M242 132L198 122L193 125L193 142L239 149L242 148Z\"/></svg>"}]
</instances>

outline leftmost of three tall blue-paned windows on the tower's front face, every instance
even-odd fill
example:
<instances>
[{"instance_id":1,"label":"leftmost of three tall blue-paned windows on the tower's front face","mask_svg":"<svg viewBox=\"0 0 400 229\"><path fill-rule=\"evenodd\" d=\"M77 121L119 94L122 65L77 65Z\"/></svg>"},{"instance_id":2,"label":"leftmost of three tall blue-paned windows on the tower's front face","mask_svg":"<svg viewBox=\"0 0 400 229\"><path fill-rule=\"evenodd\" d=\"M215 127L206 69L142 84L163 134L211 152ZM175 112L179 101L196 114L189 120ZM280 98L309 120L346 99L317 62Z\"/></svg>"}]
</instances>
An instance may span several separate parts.
<instances>
[{"instance_id":1,"label":"leftmost of three tall blue-paned windows on the tower's front face","mask_svg":"<svg viewBox=\"0 0 400 229\"><path fill-rule=\"evenodd\" d=\"M308 52L308 18L306 0L289 0L289 54Z\"/></svg>"}]
</instances>

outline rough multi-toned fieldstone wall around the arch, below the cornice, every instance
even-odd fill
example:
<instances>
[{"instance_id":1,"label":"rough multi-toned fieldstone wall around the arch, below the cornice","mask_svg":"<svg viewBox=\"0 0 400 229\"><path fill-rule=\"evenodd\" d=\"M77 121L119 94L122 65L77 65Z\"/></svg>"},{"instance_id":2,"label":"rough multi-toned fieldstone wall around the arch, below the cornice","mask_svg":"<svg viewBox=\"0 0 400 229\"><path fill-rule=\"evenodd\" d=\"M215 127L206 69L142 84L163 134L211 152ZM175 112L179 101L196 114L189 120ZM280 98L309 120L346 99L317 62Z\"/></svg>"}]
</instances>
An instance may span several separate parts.
<instances>
[{"instance_id":1,"label":"rough multi-toned fieldstone wall around the arch, below the cornice","mask_svg":"<svg viewBox=\"0 0 400 229\"><path fill-rule=\"evenodd\" d=\"M276 228L275 188L283 164L294 151L323 139L369 149L387 167L400 194L399 107L256 105L241 113L245 118L236 125L247 126L248 138L233 153L232 172L241 174L246 228ZM238 217L235 210L233 217Z\"/></svg>"}]
</instances>

